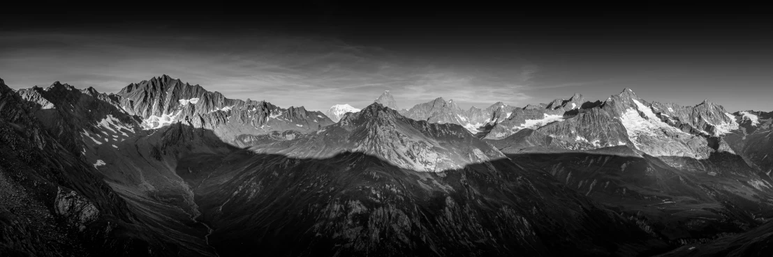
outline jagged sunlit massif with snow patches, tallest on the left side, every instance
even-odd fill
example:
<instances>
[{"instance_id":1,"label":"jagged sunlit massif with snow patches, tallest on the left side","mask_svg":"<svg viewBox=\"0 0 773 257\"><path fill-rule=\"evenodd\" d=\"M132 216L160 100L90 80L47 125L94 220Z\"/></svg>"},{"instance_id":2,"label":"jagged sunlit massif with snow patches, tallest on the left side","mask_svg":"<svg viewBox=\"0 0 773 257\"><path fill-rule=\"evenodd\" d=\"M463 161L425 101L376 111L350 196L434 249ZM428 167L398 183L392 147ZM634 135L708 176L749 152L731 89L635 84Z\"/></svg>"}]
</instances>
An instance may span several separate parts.
<instances>
[{"instance_id":1,"label":"jagged sunlit massif with snow patches, tallest on the left side","mask_svg":"<svg viewBox=\"0 0 773 257\"><path fill-rule=\"evenodd\" d=\"M334 123L322 112L304 107L282 109L264 101L227 99L221 93L169 76L132 83L117 95L121 96L121 107L142 117L147 128L186 121L194 127L213 130L228 142L242 134L284 130L309 133Z\"/></svg>"}]
</instances>

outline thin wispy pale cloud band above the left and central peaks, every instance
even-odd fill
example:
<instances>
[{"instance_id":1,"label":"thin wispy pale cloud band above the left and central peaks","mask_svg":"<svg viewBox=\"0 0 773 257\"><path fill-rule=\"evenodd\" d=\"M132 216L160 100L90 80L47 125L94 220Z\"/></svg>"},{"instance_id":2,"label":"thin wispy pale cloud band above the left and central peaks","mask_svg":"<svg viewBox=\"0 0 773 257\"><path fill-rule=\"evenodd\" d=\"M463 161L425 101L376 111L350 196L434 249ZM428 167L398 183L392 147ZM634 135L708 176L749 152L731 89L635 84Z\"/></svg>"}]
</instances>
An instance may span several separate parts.
<instances>
[{"instance_id":1,"label":"thin wispy pale cloud band above the left and central peaks","mask_svg":"<svg viewBox=\"0 0 773 257\"><path fill-rule=\"evenodd\" d=\"M321 37L90 35L5 32L0 74L9 86L59 80L116 92L168 74L231 98L324 110L336 103L365 107L390 90L409 108L438 96L485 107L523 103L537 67L503 58L497 66L418 59L386 49Z\"/></svg>"}]
</instances>

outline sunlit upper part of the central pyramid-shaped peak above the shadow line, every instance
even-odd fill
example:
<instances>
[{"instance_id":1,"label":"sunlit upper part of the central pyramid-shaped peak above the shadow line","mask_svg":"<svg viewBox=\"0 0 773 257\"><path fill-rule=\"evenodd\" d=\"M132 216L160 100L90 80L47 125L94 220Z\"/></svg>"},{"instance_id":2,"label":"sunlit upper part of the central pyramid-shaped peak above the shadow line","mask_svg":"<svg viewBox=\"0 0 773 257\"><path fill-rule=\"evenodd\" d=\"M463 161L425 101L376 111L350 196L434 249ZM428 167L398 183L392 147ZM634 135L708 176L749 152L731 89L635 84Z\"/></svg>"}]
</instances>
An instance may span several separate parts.
<instances>
[{"instance_id":1,"label":"sunlit upper part of the central pyramid-shaped peak above the shadow line","mask_svg":"<svg viewBox=\"0 0 773 257\"><path fill-rule=\"evenodd\" d=\"M359 113L347 113L339 123L307 137L252 150L301 158L326 158L355 151L414 171L443 171L504 157L461 126L411 120L379 103Z\"/></svg>"}]
</instances>

